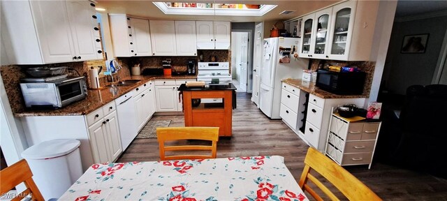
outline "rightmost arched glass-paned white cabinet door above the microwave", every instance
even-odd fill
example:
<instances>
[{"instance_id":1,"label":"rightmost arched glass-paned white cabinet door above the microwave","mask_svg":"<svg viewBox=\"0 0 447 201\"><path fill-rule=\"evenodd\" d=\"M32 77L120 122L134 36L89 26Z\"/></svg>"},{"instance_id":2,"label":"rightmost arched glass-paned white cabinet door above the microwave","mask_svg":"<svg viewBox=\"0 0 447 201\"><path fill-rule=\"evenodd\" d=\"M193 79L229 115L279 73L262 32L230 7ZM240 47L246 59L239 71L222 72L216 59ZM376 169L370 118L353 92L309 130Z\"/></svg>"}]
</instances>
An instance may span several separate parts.
<instances>
[{"instance_id":1,"label":"rightmost arched glass-paned white cabinet door above the microwave","mask_svg":"<svg viewBox=\"0 0 447 201\"><path fill-rule=\"evenodd\" d=\"M346 1L332 8L331 43L328 46L330 59L348 60L356 3L356 1Z\"/></svg>"}]
</instances>

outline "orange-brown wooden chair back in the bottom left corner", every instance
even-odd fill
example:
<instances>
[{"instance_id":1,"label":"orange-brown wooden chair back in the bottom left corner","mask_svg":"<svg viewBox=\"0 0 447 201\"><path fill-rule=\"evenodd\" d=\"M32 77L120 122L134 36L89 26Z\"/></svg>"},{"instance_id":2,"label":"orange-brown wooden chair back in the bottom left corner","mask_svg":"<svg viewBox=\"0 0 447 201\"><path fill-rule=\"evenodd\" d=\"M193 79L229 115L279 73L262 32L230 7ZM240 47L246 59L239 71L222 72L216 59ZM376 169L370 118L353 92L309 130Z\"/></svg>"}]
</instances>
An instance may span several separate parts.
<instances>
[{"instance_id":1,"label":"orange-brown wooden chair back in the bottom left corner","mask_svg":"<svg viewBox=\"0 0 447 201\"><path fill-rule=\"evenodd\" d=\"M22 193L17 193L17 195L15 195L16 197L13 200L22 200L28 195L31 195L31 200L44 200L41 191L39 191L33 181L33 173L29 169L27 161L25 161L24 159L17 163L14 163L8 168L1 170L0 175L1 195L3 195L3 193L8 193L8 191L23 182L25 186L27 186L27 189Z\"/></svg>"}]
</instances>

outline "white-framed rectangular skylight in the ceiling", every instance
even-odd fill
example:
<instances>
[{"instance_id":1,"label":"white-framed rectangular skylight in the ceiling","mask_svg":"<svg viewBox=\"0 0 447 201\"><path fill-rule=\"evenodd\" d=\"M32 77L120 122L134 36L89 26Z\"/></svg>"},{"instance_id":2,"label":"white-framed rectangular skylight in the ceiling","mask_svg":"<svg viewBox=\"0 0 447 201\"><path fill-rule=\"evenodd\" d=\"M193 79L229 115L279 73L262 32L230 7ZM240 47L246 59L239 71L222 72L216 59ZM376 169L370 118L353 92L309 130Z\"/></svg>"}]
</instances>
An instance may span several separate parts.
<instances>
[{"instance_id":1,"label":"white-framed rectangular skylight in the ceiling","mask_svg":"<svg viewBox=\"0 0 447 201\"><path fill-rule=\"evenodd\" d=\"M263 16L277 5L154 2L166 15Z\"/></svg>"}]
</instances>

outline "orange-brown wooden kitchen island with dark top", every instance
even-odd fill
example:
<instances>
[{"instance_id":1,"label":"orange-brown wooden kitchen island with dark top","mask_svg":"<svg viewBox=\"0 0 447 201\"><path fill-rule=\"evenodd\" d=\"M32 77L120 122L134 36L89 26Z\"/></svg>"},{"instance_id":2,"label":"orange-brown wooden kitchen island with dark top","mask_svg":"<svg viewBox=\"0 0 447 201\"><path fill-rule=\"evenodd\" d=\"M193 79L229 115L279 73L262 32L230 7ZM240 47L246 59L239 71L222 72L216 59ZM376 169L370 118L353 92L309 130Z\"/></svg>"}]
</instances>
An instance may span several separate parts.
<instances>
[{"instance_id":1,"label":"orange-brown wooden kitchen island with dark top","mask_svg":"<svg viewBox=\"0 0 447 201\"><path fill-rule=\"evenodd\" d=\"M231 136L233 105L235 106L236 87L229 84L205 85L205 87L186 87L180 85L183 97L184 126L219 127L219 136ZM195 99L222 98L222 103L194 104Z\"/></svg>"}]
</instances>

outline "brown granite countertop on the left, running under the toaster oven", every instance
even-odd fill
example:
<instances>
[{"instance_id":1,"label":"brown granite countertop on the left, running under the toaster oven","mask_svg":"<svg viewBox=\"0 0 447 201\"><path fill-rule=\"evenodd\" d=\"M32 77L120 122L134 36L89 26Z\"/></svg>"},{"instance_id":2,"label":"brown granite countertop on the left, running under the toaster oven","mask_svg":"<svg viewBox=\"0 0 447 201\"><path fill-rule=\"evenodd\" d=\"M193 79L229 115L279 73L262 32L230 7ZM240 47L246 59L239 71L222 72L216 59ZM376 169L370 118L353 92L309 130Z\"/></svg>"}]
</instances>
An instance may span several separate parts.
<instances>
[{"instance_id":1,"label":"brown granite countertop on the left, running under the toaster oven","mask_svg":"<svg viewBox=\"0 0 447 201\"><path fill-rule=\"evenodd\" d=\"M15 112L14 115L15 117L84 115L103 107L103 105L114 101L119 96L140 87L141 84L145 84L150 80L196 78L196 75L134 75L122 77L121 80L140 80L140 82L129 86L115 87L115 89L112 87L102 87L103 89L101 90L89 90L87 98L84 100L72 103L57 110L30 110L25 108L23 111Z\"/></svg>"}]
</instances>

